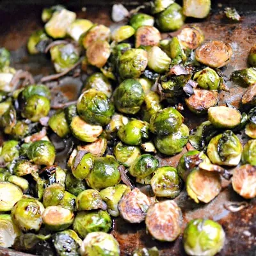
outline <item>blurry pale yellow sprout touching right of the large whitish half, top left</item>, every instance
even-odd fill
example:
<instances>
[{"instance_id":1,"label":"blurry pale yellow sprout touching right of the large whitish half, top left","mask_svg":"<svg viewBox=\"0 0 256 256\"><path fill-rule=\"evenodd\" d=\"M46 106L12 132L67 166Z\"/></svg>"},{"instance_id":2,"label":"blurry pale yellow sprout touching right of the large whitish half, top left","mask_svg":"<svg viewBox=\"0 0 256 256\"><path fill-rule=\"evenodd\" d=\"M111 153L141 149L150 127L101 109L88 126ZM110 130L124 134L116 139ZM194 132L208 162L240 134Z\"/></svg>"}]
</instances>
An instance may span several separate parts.
<instances>
[{"instance_id":1,"label":"blurry pale yellow sprout touching right of the large whitish half, top left","mask_svg":"<svg viewBox=\"0 0 256 256\"><path fill-rule=\"evenodd\" d=\"M92 28L93 23L86 19L76 19L67 28L67 34L72 37L76 42L83 33L86 33L90 28Z\"/></svg>"}]
</instances>

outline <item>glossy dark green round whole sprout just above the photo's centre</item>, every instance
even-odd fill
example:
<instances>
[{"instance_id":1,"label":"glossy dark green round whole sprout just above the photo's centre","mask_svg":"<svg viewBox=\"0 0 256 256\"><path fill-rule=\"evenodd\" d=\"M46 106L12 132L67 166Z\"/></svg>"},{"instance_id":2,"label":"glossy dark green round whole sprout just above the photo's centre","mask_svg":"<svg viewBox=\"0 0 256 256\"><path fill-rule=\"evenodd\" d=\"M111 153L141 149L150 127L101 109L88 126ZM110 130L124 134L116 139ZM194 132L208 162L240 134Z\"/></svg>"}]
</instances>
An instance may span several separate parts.
<instances>
[{"instance_id":1,"label":"glossy dark green round whole sprout just above the photo's centre","mask_svg":"<svg viewBox=\"0 0 256 256\"><path fill-rule=\"evenodd\" d=\"M127 79L120 83L113 96L118 111L134 115L140 110L145 93L140 82Z\"/></svg>"}]
</instances>

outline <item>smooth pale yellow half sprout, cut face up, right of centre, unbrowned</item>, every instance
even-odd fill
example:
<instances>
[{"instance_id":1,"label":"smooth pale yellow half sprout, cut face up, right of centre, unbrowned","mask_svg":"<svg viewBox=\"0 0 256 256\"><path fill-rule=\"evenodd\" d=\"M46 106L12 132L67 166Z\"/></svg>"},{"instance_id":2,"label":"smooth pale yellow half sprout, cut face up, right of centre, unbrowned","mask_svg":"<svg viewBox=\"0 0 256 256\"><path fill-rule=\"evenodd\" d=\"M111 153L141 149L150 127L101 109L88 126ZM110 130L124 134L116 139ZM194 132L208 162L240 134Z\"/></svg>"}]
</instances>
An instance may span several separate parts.
<instances>
[{"instance_id":1,"label":"smooth pale yellow half sprout, cut face up, right of centre, unbrowned","mask_svg":"<svg viewBox=\"0 0 256 256\"><path fill-rule=\"evenodd\" d=\"M208 109L208 119L217 128L232 129L240 124L241 114L237 109L225 106Z\"/></svg>"}]
</instances>

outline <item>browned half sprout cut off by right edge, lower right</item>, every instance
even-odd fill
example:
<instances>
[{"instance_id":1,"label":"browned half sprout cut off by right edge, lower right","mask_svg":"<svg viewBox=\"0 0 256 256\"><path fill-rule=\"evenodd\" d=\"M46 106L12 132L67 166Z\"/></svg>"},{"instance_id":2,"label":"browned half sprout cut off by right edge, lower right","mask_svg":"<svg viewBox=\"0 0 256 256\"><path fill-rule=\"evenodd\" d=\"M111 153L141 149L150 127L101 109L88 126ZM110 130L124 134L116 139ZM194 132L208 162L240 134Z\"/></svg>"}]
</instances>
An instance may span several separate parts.
<instances>
[{"instance_id":1,"label":"browned half sprout cut off by right edge, lower right","mask_svg":"<svg viewBox=\"0 0 256 256\"><path fill-rule=\"evenodd\" d=\"M232 187L239 195L246 199L256 196L256 168L251 164L244 164L234 170Z\"/></svg>"}]
</instances>

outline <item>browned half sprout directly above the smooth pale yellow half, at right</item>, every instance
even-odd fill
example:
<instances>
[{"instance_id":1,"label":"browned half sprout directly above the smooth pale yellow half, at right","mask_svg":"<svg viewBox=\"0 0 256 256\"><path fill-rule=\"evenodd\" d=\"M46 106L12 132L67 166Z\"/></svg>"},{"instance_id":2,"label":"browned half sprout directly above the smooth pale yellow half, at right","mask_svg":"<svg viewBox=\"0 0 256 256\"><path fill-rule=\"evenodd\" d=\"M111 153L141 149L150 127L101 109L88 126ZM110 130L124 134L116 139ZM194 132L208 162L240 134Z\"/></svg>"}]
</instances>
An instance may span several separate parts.
<instances>
[{"instance_id":1,"label":"browned half sprout directly above the smooth pale yellow half, at right","mask_svg":"<svg viewBox=\"0 0 256 256\"><path fill-rule=\"evenodd\" d=\"M194 89L194 94L185 99L189 110L195 114L204 114L218 104L218 92Z\"/></svg>"}]
</instances>

